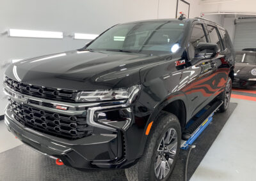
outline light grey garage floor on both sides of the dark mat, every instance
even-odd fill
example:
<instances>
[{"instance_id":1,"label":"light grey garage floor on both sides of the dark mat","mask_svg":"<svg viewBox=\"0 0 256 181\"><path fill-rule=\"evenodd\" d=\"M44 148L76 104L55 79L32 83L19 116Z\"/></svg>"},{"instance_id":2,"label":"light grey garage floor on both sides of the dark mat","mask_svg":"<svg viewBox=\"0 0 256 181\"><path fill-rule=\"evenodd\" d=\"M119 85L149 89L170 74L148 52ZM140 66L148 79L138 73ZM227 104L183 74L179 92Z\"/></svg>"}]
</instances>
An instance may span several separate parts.
<instances>
[{"instance_id":1,"label":"light grey garage floor on both sides of the dark mat","mask_svg":"<svg viewBox=\"0 0 256 181\"><path fill-rule=\"evenodd\" d=\"M238 103L236 110L227 120L227 123L212 144L202 162L199 164L191 180L254 180L252 175L254 175L256 170L256 147L253 144L256 138L254 131L254 127L256 126L256 115L253 113L255 112L256 101L235 98L232 98L231 101L233 103ZM0 121L0 153L6 150L8 151L3 154L8 152L17 153L19 150L25 150L26 152L26 149L28 149L27 152L31 151L29 148L24 146L22 146L23 148L17 147L19 145L22 145L22 143L15 139L15 137L7 131L4 122ZM14 149L10 150L11 148ZM37 153L31 152L31 156L33 154L37 156ZM201 153L198 152L197 154ZM3 160L4 159L1 161ZM4 161L1 161L0 164L4 164ZM51 161L51 159L49 159L49 161ZM13 163L17 164L15 161L13 161ZM42 163L31 164L33 165L33 168L36 168L35 165ZM55 165L53 161L50 164L54 168ZM0 167L3 168L3 165ZM193 166L189 164L189 167L192 168ZM31 174L32 170L27 171L28 174ZM38 175L40 174L38 173ZM90 175L95 175L95 173L90 173ZM116 175L117 179L118 177L120 178L119 174ZM13 180L13 177L9 178L9 180ZM19 180L19 177L17 177L17 179ZM90 177L88 177L88 179L90 180Z\"/></svg>"}]
</instances>

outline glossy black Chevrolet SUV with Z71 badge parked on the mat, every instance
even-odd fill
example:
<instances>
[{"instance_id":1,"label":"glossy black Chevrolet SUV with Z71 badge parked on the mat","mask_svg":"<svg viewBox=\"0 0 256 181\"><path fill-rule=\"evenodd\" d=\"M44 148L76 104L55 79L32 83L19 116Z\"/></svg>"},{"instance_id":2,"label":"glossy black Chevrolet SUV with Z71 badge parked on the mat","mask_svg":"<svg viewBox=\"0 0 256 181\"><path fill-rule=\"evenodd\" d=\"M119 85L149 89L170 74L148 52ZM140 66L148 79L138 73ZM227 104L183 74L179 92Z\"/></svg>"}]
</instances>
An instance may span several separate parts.
<instances>
[{"instance_id":1,"label":"glossy black Chevrolet SUV with Z71 badge parked on the mat","mask_svg":"<svg viewBox=\"0 0 256 181\"><path fill-rule=\"evenodd\" d=\"M227 31L202 18L118 24L79 50L12 64L5 123L65 165L167 180L188 121L214 101L227 110L234 57Z\"/></svg>"}]
</instances>

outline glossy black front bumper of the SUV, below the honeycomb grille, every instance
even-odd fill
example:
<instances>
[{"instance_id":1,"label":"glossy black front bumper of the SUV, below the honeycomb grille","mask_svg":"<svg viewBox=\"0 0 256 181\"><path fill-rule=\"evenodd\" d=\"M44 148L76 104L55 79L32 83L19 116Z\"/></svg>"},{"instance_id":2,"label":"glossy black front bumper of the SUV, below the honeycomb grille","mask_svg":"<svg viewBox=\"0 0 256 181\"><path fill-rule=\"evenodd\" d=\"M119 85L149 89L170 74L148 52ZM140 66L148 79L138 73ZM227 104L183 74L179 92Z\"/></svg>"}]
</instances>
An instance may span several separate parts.
<instances>
[{"instance_id":1,"label":"glossy black front bumper of the SUV, below the honeycomb grille","mask_svg":"<svg viewBox=\"0 0 256 181\"><path fill-rule=\"evenodd\" d=\"M127 164L123 153L122 133L92 134L78 140L66 140L39 133L23 126L13 118L10 106L4 122L19 140L47 156L60 158L74 168L123 168Z\"/></svg>"}]
</instances>

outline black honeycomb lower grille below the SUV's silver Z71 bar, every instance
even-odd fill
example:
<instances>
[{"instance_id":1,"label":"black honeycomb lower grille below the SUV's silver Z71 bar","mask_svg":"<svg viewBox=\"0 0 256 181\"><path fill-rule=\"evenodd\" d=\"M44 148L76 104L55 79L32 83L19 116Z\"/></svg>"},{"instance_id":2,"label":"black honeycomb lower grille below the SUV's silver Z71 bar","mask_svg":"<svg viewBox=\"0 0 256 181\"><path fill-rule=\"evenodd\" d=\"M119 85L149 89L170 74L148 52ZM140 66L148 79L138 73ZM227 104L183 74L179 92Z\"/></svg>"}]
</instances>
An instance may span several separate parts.
<instances>
[{"instance_id":1,"label":"black honeycomb lower grille below the SUV's silver Z71 bar","mask_svg":"<svg viewBox=\"0 0 256 181\"><path fill-rule=\"evenodd\" d=\"M90 136L93 132L93 127L86 124L86 117L83 115L70 116L54 113L17 103L12 99L9 101L17 121L42 133L74 140Z\"/></svg>"}]
</instances>

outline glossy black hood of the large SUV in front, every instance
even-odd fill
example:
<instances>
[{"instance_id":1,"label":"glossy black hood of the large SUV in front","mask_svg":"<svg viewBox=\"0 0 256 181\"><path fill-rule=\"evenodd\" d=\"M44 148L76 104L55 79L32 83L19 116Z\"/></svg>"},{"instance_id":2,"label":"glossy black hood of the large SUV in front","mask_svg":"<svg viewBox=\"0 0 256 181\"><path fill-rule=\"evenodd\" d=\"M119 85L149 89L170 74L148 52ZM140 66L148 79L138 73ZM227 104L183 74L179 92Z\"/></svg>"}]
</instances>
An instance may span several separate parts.
<instances>
[{"instance_id":1,"label":"glossy black hood of the large SUV in front","mask_svg":"<svg viewBox=\"0 0 256 181\"><path fill-rule=\"evenodd\" d=\"M159 57L125 52L69 51L12 64L5 75L32 85L90 91L140 83L140 69Z\"/></svg>"}]
</instances>

